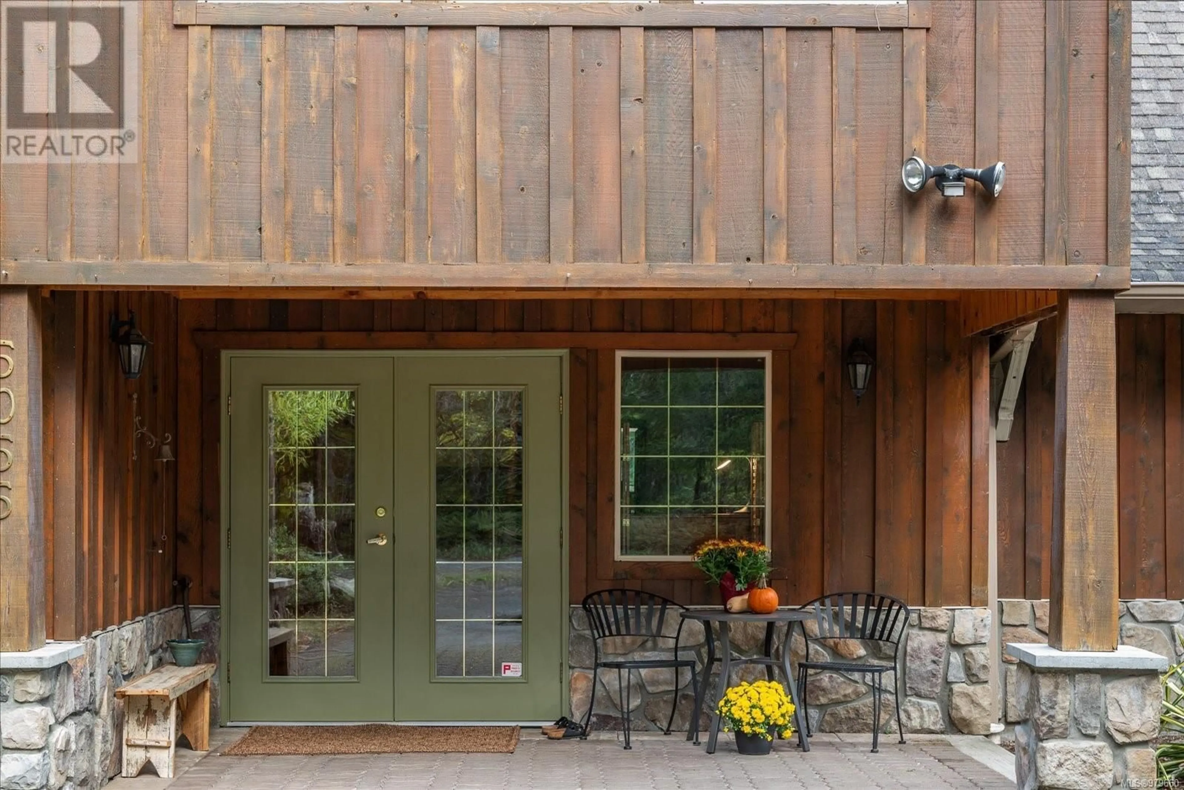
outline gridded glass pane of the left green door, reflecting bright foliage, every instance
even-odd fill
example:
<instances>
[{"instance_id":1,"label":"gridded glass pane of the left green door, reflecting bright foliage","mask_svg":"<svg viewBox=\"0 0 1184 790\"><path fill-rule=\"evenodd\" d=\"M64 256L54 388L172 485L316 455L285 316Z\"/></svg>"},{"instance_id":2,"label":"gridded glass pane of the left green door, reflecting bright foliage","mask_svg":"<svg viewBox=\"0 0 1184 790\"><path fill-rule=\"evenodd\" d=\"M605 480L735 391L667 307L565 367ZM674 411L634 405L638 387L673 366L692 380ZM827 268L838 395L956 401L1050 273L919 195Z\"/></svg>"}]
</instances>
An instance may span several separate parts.
<instances>
[{"instance_id":1,"label":"gridded glass pane of the left green door, reflecting bright foliage","mask_svg":"<svg viewBox=\"0 0 1184 790\"><path fill-rule=\"evenodd\" d=\"M272 676L355 674L356 419L352 390L268 393Z\"/></svg>"}]
</instances>

